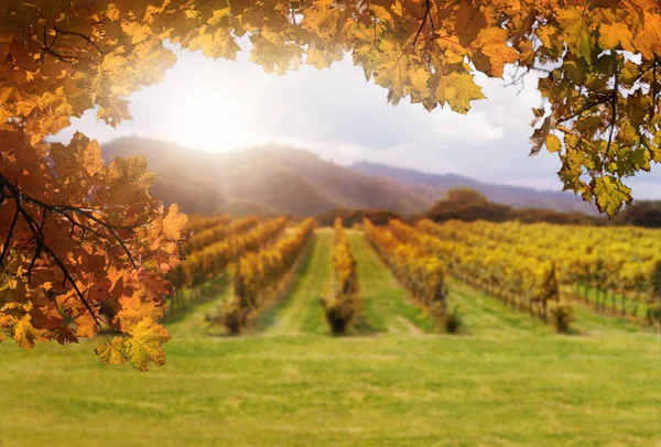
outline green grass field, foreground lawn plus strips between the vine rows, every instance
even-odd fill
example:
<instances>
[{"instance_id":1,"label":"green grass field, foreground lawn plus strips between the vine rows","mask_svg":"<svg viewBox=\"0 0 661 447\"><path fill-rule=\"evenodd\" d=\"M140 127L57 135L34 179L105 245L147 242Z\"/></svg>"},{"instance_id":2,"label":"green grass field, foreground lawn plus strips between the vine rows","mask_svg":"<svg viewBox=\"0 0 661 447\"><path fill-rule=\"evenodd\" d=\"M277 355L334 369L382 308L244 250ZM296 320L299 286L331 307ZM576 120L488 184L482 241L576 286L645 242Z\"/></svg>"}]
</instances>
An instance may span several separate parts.
<instances>
[{"instance_id":1,"label":"green grass field, foreground lawn plus strips between the vine rows","mask_svg":"<svg viewBox=\"0 0 661 447\"><path fill-rule=\"evenodd\" d=\"M449 282L459 336L433 334L358 232L368 331L327 335L318 297L333 233L319 230L263 330L224 337L172 320L167 363L102 367L96 342L0 346L0 446L654 446L654 332L578 306L577 335Z\"/></svg>"}]
</instances>

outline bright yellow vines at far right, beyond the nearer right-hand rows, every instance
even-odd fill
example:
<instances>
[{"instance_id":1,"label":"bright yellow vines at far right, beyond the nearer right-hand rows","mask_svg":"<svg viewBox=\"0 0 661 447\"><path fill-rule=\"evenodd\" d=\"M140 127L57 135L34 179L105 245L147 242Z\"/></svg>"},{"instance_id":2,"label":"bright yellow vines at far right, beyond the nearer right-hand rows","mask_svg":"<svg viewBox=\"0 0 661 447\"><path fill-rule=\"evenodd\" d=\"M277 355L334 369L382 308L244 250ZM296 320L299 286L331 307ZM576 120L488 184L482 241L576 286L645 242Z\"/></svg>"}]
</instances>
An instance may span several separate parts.
<instances>
[{"instance_id":1,"label":"bright yellow vines at far right, beyond the nearer right-hand rows","mask_svg":"<svg viewBox=\"0 0 661 447\"><path fill-rule=\"evenodd\" d=\"M424 228L423 228L424 227ZM655 299L661 231L635 227L460 222L421 228L443 240L520 255L531 264L553 262L561 284L587 284L643 302Z\"/></svg>"}]
</instances>

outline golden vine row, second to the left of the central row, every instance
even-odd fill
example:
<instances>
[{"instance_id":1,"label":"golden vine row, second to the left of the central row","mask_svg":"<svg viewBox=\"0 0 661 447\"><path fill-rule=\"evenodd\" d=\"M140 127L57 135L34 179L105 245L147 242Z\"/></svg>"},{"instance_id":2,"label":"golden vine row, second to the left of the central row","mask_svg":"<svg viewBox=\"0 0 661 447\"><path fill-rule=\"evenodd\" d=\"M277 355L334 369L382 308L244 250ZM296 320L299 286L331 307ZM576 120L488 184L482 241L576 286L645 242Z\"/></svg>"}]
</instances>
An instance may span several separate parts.
<instances>
[{"instance_id":1,"label":"golden vine row, second to the left of the central row","mask_svg":"<svg viewBox=\"0 0 661 447\"><path fill-rule=\"evenodd\" d=\"M218 276L243 253L262 249L284 230L285 225L284 217L268 220L246 233L228 237L193 253L173 271L172 283L175 286L192 287Z\"/></svg>"}]
</instances>

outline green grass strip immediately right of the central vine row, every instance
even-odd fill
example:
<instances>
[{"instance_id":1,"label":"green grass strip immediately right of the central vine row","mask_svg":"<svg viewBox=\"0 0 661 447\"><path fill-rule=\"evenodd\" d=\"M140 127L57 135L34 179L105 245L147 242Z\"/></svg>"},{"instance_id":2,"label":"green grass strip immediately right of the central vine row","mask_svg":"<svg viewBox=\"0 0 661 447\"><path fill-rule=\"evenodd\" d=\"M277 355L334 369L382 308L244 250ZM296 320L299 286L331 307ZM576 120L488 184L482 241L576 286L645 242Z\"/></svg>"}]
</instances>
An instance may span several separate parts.
<instances>
[{"instance_id":1,"label":"green grass strip immediately right of the central vine row","mask_svg":"<svg viewBox=\"0 0 661 447\"><path fill-rule=\"evenodd\" d=\"M347 236L357 262L360 296L368 327L379 332L410 332L415 331L415 328L425 332L437 331L436 321L413 304L362 232L348 231Z\"/></svg>"}]
</instances>

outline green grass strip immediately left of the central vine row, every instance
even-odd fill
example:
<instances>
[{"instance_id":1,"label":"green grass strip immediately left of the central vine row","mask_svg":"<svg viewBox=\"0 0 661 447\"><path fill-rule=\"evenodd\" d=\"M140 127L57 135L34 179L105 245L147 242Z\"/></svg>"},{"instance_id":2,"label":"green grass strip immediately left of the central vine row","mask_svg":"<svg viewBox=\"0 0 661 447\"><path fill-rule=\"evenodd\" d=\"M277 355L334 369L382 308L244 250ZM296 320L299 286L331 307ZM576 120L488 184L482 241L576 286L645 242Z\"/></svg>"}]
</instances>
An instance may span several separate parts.
<instances>
[{"instance_id":1,"label":"green grass strip immediately left of the central vine row","mask_svg":"<svg viewBox=\"0 0 661 447\"><path fill-rule=\"evenodd\" d=\"M301 330L311 331L308 326L322 326L321 305L314 323L308 321L308 315L311 307L315 306L315 302L319 301L328 286L332 240L332 230L315 231L314 240L311 241L312 252L296 270L290 296L274 306L264 320L264 327L269 327L269 336L293 335Z\"/></svg>"}]
</instances>

